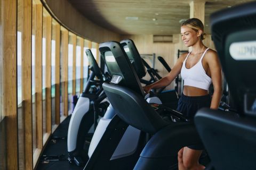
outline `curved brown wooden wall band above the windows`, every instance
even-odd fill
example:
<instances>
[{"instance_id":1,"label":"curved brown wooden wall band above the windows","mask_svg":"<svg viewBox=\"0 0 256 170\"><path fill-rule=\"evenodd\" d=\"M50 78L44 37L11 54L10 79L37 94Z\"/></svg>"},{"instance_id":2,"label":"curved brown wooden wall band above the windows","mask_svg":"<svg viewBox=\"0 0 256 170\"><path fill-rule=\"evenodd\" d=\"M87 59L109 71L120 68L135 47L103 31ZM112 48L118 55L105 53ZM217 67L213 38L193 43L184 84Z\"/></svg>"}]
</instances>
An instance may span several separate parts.
<instances>
[{"instance_id":1,"label":"curved brown wooden wall band above the windows","mask_svg":"<svg viewBox=\"0 0 256 170\"><path fill-rule=\"evenodd\" d=\"M96 43L109 40L119 41L120 36L117 33L99 27L92 21L86 19L79 13L68 0L43 0L45 7L51 11L55 19L66 28L83 38L89 39ZM60 7L61 6L61 7ZM70 15L67 15L69 13Z\"/></svg>"}]
</instances>

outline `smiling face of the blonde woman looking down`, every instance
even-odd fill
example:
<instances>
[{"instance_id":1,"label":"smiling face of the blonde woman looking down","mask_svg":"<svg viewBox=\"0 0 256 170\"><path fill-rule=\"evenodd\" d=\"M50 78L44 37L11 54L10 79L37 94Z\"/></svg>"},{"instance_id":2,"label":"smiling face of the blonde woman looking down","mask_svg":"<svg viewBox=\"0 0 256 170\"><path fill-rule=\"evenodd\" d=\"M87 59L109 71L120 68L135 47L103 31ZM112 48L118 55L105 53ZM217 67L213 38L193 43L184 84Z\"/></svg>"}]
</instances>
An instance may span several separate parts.
<instances>
[{"instance_id":1,"label":"smiling face of the blonde woman looking down","mask_svg":"<svg viewBox=\"0 0 256 170\"><path fill-rule=\"evenodd\" d=\"M193 46L199 40L198 32L194 31L190 27L183 25L180 28L181 39L186 47Z\"/></svg>"}]
</instances>

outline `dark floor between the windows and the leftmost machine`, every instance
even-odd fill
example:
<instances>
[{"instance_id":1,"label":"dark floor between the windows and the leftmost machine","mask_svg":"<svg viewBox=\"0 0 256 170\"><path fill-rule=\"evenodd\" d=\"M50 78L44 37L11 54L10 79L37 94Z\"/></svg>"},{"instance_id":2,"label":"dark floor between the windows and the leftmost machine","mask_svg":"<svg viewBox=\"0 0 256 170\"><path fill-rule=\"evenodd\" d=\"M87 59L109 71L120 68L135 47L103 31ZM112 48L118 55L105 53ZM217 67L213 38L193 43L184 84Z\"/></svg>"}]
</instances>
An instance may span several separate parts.
<instances>
[{"instance_id":1,"label":"dark floor between the windows and the leftmost machine","mask_svg":"<svg viewBox=\"0 0 256 170\"><path fill-rule=\"evenodd\" d=\"M67 169L74 169L80 170L83 167L78 167L75 164L70 164L67 160L68 151L67 151L67 135L68 135L68 124L70 121L70 116L66 118L55 130L52 134L50 141L47 143L46 148L44 149L43 156L41 156L37 170L67 170ZM63 137L63 139L58 139L54 137ZM44 155L52 156L52 158L62 159L62 160L52 160L52 161L44 161Z\"/></svg>"}]
</instances>

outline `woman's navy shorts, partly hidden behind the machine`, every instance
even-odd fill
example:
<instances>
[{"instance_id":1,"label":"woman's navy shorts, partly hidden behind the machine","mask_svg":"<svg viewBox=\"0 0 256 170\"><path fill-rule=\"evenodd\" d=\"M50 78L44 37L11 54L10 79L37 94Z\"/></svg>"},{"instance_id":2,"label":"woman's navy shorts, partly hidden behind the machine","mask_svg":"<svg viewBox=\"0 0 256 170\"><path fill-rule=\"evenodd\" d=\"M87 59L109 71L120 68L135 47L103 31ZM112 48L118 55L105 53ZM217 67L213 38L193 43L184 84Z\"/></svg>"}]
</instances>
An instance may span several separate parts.
<instances>
[{"instance_id":1,"label":"woman's navy shorts, partly hidden behind the machine","mask_svg":"<svg viewBox=\"0 0 256 170\"><path fill-rule=\"evenodd\" d=\"M177 111L182 113L184 116L188 117L189 119L193 120L198 109L202 107L210 108L210 106L211 106L210 95L185 96L182 94L179 99ZM204 146L203 144L200 144L200 145L188 146L188 148L195 149L195 150L203 150Z\"/></svg>"}]
</instances>

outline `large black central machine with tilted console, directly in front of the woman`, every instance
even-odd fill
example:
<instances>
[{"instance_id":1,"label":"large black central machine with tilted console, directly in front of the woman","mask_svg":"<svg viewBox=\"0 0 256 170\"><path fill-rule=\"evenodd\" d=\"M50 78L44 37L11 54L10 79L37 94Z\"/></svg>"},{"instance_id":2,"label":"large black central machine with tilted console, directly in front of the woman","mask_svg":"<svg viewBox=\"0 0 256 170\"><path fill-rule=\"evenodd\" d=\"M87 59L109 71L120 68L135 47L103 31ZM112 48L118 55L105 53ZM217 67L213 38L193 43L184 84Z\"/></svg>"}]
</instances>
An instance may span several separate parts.
<instances>
[{"instance_id":1,"label":"large black central machine with tilted console, directly in front of the woman","mask_svg":"<svg viewBox=\"0 0 256 170\"><path fill-rule=\"evenodd\" d=\"M193 123L170 108L151 107L144 99L141 84L121 45L115 41L100 44L100 52L119 81L103 83L104 91L117 116L133 127L153 135L140 154L134 169L167 169L177 163L178 150L200 141ZM113 61L113 62L107 62ZM172 115L180 121L166 121L162 115Z\"/></svg>"}]
</instances>

